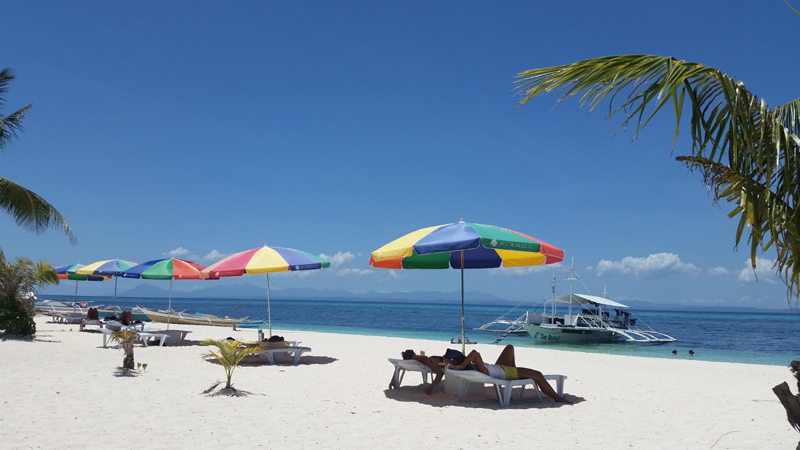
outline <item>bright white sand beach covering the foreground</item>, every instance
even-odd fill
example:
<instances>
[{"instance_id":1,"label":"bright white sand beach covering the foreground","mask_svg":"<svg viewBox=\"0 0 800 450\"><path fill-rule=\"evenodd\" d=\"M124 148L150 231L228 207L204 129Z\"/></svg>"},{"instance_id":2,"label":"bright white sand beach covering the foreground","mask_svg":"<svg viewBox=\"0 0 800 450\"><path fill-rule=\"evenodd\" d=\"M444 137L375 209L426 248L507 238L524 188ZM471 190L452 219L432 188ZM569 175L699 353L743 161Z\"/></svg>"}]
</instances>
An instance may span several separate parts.
<instances>
[{"instance_id":1,"label":"bright white sand beach covering the foreground","mask_svg":"<svg viewBox=\"0 0 800 450\"><path fill-rule=\"evenodd\" d=\"M201 393L222 367L201 358L206 338L254 340L255 330L173 325L183 345L144 348L144 373L121 376L123 354L98 332L37 316L33 340L0 333L0 446L27 448L794 448L772 387L796 382L784 367L621 357L518 348L517 364L564 374L555 405L532 390L501 408L491 390L459 403L424 394L408 373L388 390L407 348L455 345L417 339L273 330L312 348L300 364L236 370L241 397ZM156 325L148 324L149 328ZM470 346L494 360L498 345ZM787 361L788 364L788 361Z\"/></svg>"}]
</instances>

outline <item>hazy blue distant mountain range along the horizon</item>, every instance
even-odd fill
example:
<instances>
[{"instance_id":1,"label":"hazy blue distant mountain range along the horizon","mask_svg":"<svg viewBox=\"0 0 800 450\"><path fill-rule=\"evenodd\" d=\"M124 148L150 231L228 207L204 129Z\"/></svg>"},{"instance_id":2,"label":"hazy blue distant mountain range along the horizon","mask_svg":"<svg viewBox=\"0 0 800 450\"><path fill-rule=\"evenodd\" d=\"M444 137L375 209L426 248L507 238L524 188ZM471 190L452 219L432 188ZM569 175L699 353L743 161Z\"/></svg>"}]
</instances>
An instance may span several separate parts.
<instances>
[{"instance_id":1,"label":"hazy blue distant mountain range along the horizon","mask_svg":"<svg viewBox=\"0 0 800 450\"><path fill-rule=\"evenodd\" d=\"M212 283L212 282L210 282ZM159 286L141 283L136 287L119 294L123 297L140 298L165 298L169 296L169 290ZM266 287L251 284L235 284L225 286L209 286L191 292L172 292L174 298L265 298L267 295ZM508 299L500 298L492 294L480 291L467 291L464 293L467 303L473 305L508 305L515 306L516 303ZM350 291L334 289L313 289L313 288L292 288L292 289L272 289L270 298L273 300L338 300L338 301L365 301L365 302L402 302L402 303L444 303L453 304L461 302L461 291L438 292L438 291L409 291L382 293L370 291L363 294L356 294ZM783 309L764 309L755 307L740 306L695 306L680 303L653 303L639 300L626 300L624 304L630 306L634 311L689 311L689 312L733 312L733 313L794 313L789 308ZM537 305L531 304L533 308Z\"/></svg>"}]
</instances>

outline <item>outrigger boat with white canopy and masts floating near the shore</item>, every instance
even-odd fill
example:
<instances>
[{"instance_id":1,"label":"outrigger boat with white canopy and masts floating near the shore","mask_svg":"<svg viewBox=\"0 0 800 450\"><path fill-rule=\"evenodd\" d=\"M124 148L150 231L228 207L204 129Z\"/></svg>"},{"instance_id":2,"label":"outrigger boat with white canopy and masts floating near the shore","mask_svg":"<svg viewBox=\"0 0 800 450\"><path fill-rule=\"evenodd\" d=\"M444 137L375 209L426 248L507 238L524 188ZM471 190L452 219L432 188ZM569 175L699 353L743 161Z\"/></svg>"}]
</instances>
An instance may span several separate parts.
<instances>
[{"instance_id":1,"label":"outrigger boat with white canopy and masts floating near the shore","mask_svg":"<svg viewBox=\"0 0 800 450\"><path fill-rule=\"evenodd\" d=\"M527 311L515 320L500 318L475 330L502 333L497 342L509 334L524 333L529 334L536 343L660 344L677 341L671 336L654 331L630 312L627 305L605 297L573 293L572 282L580 278L575 273L574 266L570 271L571 276L565 278L570 281L569 295L556 298L556 279L553 276L553 299L544 302L543 311ZM498 325L502 329L497 329Z\"/></svg>"}]
</instances>

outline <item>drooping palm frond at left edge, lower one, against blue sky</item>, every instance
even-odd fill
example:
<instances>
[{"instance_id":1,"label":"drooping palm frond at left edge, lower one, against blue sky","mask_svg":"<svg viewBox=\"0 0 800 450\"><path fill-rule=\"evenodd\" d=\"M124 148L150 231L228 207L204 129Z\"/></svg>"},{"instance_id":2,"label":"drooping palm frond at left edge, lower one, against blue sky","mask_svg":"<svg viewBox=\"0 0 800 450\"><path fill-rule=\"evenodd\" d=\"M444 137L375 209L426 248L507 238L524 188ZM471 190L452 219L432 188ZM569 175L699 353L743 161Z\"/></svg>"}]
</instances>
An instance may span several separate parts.
<instances>
[{"instance_id":1,"label":"drooping palm frond at left edge, lower one, against blue sky","mask_svg":"<svg viewBox=\"0 0 800 450\"><path fill-rule=\"evenodd\" d=\"M32 191L0 177L0 210L14 217L16 224L37 234L48 228L60 228L73 244L77 242L61 213Z\"/></svg>"}]
</instances>

